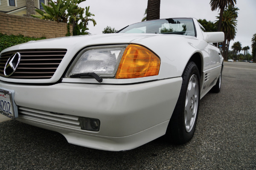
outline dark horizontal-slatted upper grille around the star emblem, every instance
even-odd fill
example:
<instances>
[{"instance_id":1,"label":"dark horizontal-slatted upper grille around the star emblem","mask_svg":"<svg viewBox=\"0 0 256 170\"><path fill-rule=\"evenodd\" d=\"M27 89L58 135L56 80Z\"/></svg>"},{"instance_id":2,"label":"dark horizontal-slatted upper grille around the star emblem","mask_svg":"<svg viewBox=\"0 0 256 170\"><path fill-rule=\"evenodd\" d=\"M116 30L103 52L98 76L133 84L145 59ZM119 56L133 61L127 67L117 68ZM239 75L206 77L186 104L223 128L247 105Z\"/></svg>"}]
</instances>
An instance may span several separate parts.
<instances>
[{"instance_id":1,"label":"dark horizontal-slatted upper grille around the star emblem","mask_svg":"<svg viewBox=\"0 0 256 170\"><path fill-rule=\"evenodd\" d=\"M33 51L12 51L1 54L0 76L4 76L4 67L12 54L20 53L20 63L16 71L9 76L13 79L50 79L61 63L66 49L48 49Z\"/></svg>"}]
</instances>

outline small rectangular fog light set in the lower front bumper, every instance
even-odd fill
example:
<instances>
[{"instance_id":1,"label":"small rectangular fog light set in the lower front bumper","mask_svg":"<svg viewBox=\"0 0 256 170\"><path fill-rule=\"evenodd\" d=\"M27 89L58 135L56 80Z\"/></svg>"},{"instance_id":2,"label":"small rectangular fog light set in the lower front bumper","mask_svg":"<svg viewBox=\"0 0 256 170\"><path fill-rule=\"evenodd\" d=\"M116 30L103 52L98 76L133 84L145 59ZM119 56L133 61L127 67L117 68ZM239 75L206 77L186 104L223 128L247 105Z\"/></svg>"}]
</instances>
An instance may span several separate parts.
<instances>
[{"instance_id":1,"label":"small rectangular fog light set in the lower front bumper","mask_svg":"<svg viewBox=\"0 0 256 170\"><path fill-rule=\"evenodd\" d=\"M99 131L99 119L79 117L79 122L82 130Z\"/></svg>"}]
</instances>

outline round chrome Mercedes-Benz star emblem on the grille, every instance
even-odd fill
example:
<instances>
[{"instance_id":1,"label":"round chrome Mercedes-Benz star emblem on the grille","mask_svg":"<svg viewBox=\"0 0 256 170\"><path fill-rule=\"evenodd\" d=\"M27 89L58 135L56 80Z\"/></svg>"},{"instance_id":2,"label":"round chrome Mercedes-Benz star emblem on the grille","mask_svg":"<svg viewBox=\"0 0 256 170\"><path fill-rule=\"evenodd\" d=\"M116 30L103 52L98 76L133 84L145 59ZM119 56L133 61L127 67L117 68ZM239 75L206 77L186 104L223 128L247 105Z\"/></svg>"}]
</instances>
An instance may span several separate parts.
<instances>
[{"instance_id":1,"label":"round chrome Mercedes-Benz star emblem on the grille","mask_svg":"<svg viewBox=\"0 0 256 170\"><path fill-rule=\"evenodd\" d=\"M20 53L13 54L6 62L6 65L3 70L4 75L6 77L11 76L17 69L19 62L20 62Z\"/></svg>"}]
</instances>

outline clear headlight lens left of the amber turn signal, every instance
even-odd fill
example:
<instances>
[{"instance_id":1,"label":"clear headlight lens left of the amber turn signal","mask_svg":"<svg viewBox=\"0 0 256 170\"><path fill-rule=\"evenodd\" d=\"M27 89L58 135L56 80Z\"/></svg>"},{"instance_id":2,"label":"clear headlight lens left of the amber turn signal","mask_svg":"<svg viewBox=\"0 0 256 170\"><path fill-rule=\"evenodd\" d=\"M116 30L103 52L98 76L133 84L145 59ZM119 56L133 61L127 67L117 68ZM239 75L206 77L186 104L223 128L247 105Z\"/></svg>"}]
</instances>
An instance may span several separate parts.
<instances>
[{"instance_id":1,"label":"clear headlight lens left of the amber turn signal","mask_svg":"<svg viewBox=\"0 0 256 170\"><path fill-rule=\"evenodd\" d=\"M67 76L94 72L100 77L114 77L127 45L107 45L85 48L76 57Z\"/></svg>"}]
</instances>

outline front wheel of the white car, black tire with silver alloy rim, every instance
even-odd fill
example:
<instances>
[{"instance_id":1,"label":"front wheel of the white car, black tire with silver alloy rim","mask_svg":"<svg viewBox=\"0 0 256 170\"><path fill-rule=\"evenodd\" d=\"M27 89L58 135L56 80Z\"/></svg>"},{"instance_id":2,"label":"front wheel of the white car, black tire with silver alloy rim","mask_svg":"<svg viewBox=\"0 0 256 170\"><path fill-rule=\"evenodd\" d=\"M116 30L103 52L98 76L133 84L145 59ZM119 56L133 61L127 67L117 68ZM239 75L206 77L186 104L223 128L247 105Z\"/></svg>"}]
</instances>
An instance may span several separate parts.
<instances>
[{"instance_id":1,"label":"front wheel of the white car, black tire with silver alloy rim","mask_svg":"<svg viewBox=\"0 0 256 170\"><path fill-rule=\"evenodd\" d=\"M195 62L186 65L182 79L180 95L166 131L166 136L175 144L189 142L195 133L200 104L200 75Z\"/></svg>"}]
</instances>

